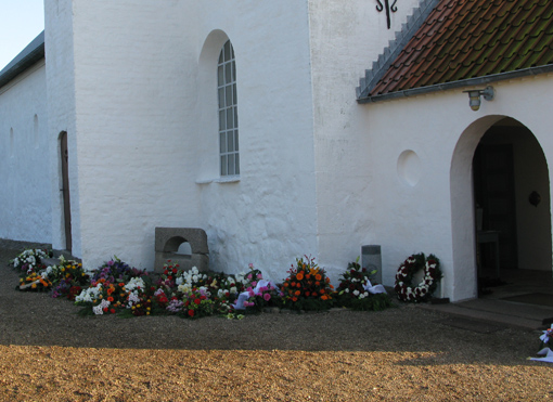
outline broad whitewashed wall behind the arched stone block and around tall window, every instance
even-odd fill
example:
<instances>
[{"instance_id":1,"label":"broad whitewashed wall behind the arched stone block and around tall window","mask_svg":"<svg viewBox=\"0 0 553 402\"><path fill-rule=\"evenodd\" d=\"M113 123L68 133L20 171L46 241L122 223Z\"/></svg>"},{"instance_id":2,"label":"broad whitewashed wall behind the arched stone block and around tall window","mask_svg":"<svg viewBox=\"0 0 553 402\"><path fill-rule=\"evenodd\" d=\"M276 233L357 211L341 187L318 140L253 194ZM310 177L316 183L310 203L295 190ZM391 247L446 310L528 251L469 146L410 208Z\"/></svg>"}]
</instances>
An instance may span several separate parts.
<instances>
[{"instance_id":1,"label":"broad whitewashed wall behind the arched stone block and around tall window","mask_svg":"<svg viewBox=\"0 0 553 402\"><path fill-rule=\"evenodd\" d=\"M73 3L80 255L88 268L117 255L151 269L155 226L200 226L213 269L253 262L280 280L294 257L317 254L307 5L164 5ZM202 87L214 31L236 54L232 183L218 180L215 81Z\"/></svg>"}]
</instances>

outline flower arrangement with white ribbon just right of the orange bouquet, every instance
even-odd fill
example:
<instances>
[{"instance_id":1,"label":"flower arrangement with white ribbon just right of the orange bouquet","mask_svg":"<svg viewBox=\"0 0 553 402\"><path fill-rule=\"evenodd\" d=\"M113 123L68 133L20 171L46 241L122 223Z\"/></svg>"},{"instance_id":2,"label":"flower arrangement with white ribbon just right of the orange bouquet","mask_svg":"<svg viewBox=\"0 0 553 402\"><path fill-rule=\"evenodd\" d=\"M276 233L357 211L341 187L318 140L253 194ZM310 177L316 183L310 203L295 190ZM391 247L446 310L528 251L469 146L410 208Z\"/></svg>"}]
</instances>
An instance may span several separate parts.
<instances>
[{"instance_id":1,"label":"flower arrangement with white ribbon just right of the orange bouquet","mask_svg":"<svg viewBox=\"0 0 553 402\"><path fill-rule=\"evenodd\" d=\"M382 285L373 286L370 280L376 270L361 268L359 257L348 263L336 289L336 301L340 307L359 311L380 311L391 306L391 300Z\"/></svg>"}]
</instances>

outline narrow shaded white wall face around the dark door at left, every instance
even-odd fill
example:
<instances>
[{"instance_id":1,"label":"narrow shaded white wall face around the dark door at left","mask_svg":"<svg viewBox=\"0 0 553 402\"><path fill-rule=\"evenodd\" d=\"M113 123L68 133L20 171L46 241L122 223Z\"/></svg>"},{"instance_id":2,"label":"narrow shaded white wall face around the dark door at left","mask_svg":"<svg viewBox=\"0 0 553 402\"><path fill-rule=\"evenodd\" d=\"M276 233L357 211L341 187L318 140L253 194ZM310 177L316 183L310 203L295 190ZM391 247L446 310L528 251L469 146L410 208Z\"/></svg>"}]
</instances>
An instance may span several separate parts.
<instances>
[{"instance_id":1,"label":"narrow shaded white wall face around the dark door at left","mask_svg":"<svg viewBox=\"0 0 553 402\"><path fill-rule=\"evenodd\" d=\"M44 1L44 52L48 100L48 153L52 247L65 249L60 133L67 132L69 191L72 199L73 254L81 256L79 186L77 174L77 127L75 117L75 72L73 1ZM68 234L69 235L69 234Z\"/></svg>"}]
</instances>

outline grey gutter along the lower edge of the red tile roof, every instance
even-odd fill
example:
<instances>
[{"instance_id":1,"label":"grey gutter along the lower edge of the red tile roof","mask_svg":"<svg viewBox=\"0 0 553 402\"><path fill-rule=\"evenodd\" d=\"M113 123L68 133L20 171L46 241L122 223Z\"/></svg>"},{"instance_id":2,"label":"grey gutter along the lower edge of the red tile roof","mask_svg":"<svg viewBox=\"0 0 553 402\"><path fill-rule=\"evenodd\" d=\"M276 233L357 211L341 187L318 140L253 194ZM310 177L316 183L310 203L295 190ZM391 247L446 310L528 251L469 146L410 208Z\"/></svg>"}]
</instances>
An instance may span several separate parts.
<instances>
[{"instance_id":1,"label":"grey gutter along the lower edge of the red tile roof","mask_svg":"<svg viewBox=\"0 0 553 402\"><path fill-rule=\"evenodd\" d=\"M462 79L459 81L443 82L443 83L437 83L434 86L407 89L404 91L383 93L380 95L360 96L357 99L357 102L359 104L382 102L382 101L388 101L388 100L394 100L394 99L398 99L398 98L415 96L415 95L421 95L421 94L425 94L425 93L446 91L449 89L462 88L462 87L481 86L481 85L487 85L490 82L503 81L506 79L536 76L536 75L548 74L548 73L553 73L553 64L548 64L548 65L539 66L539 67L517 69L517 70L507 72L507 73L492 74L492 75L485 76L485 77L467 78L467 79Z\"/></svg>"}]
</instances>

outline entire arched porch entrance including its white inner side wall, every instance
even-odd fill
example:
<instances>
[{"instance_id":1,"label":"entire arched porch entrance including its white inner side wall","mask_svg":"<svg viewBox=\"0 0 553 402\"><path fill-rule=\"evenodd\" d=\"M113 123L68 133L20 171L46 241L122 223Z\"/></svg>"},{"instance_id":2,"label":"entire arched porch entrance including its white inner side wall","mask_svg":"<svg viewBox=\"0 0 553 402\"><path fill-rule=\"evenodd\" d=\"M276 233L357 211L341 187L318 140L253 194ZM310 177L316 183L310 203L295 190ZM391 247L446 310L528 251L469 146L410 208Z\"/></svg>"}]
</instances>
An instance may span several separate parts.
<instances>
[{"instance_id":1,"label":"entire arched porch entrance including its white inner side wall","mask_svg":"<svg viewBox=\"0 0 553 402\"><path fill-rule=\"evenodd\" d=\"M506 116L475 121L456 144L450 177L455 299L549 291L549 168L533 133Z\"/></svg>"}]
</instances>

